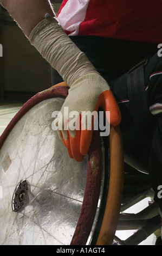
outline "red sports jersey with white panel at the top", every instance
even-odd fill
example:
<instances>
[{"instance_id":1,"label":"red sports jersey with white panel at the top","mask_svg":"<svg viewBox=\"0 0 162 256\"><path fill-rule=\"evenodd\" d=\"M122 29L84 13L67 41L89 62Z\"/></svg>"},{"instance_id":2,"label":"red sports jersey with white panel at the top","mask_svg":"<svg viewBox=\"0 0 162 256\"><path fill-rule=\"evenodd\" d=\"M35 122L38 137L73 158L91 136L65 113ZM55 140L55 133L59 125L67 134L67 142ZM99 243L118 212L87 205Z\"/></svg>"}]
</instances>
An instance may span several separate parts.
<instances>
[{"instance_id":1,"label":"red sports jersey with white panel at the top","mask_svg":"<svg viewBox=\"0 0 162 256\"><path fill-rule=\"evenodd\" d=\"M63 0L57 19L68 35L162 42L162 0Z\"/></svg>"}]
</instances>

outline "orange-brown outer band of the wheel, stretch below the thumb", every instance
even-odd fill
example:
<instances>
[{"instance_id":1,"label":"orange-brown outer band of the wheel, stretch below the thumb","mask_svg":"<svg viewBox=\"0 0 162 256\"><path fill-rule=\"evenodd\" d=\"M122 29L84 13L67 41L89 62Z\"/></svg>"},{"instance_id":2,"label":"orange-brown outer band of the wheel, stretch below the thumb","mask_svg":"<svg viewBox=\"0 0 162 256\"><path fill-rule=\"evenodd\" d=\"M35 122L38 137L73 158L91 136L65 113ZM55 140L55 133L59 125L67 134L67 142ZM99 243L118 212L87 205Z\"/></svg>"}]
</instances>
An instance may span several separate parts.
<instances>
[{"instance_id":1,"label":"orange-brown outer band of the wheel, stretch below the thumb","mask_svg":"<svg viewBox=\"0 0 162 256\"><path fill-rule=\"evenodd\" d=\"M96 245L112 245L121 208L124 187L124 154L119 126L109 135L110 177L105 214Z\"/></svg>"}]
</instances>

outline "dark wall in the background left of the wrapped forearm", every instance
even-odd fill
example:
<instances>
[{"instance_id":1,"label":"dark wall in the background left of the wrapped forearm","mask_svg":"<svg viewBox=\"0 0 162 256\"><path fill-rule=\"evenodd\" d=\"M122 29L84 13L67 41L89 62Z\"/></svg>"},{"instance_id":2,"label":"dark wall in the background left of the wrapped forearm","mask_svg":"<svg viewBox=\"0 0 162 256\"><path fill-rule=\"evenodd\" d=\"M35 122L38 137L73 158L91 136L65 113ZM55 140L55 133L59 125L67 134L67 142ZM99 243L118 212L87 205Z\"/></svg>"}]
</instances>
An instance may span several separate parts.
<instances>
[{"instance_id":1,"label":"dark wall in the background left of the wrapped forearm","mask_svg":"<svg viewBox=\"0 0 162 256\"><path fill-rule=\"evenodd\" d=\"M55 3L55 11L60 3ZM13 22L2 27L4 92L40 92L51 86L50 65Z\"/></svg>"}]
</instances>

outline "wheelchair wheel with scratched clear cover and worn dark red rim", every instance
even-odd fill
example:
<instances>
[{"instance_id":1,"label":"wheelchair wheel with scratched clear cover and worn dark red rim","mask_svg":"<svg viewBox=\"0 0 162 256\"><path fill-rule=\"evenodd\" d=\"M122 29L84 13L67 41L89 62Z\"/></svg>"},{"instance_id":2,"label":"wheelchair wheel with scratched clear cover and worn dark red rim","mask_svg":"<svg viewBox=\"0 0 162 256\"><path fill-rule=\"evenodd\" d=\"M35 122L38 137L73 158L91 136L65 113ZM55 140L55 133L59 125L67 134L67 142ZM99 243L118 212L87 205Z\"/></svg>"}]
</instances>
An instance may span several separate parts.
<instances>
[{"instance_id":1,"label":"wheelchair wheel with scratched clear cover and worn dark red rim","mask_svg":"<svg viewBox=\"0 0 162 256\"><path fill-rule=\"evenodd\" d=\"M51 128L51 114L61 109L67 94L61 86L38 93L0 138L1 245L86 245L94 237L96 244L112 243L121 202L114 202L113 231L105 237L106 209L113 207L107 206L106 192L112 175L111 168L105 175L109 157L103 154L99 131L88 155L77 163ZM117 194L119 199L121 191Z\"/></svg>"}]
</instances>

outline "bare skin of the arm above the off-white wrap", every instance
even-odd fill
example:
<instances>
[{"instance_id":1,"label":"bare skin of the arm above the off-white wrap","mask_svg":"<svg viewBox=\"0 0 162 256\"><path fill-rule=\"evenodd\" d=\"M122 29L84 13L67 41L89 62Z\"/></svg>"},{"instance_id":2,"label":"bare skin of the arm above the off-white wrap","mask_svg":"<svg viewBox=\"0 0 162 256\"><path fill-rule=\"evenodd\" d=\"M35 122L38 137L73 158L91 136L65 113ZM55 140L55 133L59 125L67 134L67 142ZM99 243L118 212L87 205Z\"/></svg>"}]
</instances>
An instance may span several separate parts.
<instances>
[{"instance_id":1,"label":"bare skin of the arm above the off-white wrap","mask_svg":"<svg viewBox=\"0 0 162 256\"><path fill-rule=\"evenodd\" d=\"M0 0L0 3L8 10L27 37L44 19L46 13L55 15L49 0Z\"/></svg>"}]
</instances>

